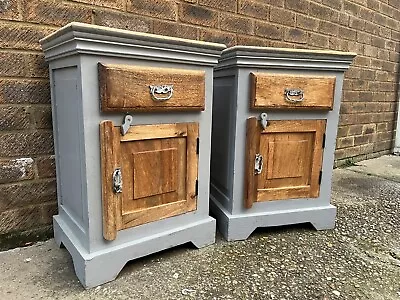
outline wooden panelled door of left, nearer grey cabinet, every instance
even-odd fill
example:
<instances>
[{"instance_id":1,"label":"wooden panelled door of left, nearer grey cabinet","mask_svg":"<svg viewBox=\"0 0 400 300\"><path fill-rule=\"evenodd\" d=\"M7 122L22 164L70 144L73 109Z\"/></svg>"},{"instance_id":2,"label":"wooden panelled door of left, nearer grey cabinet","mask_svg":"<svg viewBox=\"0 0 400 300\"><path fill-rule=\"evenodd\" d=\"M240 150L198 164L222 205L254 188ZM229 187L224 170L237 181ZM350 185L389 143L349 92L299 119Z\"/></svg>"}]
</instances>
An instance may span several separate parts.
<instances>
[{"instance_id":1,"label":"wooden panelled door of left, nearer grey cabinet","mask_svg":"<svg viewBox=\"0 0 400 300\"><path fill-rule=\"evenodd\" d=\"M100 124L105 239L196 209L198 131L198 123L138 125L121 135Z\"/></svg>"}]
</instances>

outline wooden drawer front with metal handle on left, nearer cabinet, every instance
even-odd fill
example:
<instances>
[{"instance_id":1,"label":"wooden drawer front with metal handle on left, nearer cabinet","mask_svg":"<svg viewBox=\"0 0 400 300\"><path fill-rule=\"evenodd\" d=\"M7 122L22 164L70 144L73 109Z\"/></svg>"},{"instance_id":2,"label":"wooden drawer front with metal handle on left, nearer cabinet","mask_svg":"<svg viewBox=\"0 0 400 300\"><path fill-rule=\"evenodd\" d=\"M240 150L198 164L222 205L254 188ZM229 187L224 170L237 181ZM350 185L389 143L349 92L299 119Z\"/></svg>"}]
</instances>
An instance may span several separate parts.
<instances>
[{"instance_id":1,"label":"wooden drawer front with metal handle on left, nearer cabinet","mask_svg":"<svg viewBox=\"0 0 400 300\"><path fill-rule=\"evenodd\" d=\"M204 110L204 71L101 63L98 70L104 112Z\"/></svg>"}]
</instances>

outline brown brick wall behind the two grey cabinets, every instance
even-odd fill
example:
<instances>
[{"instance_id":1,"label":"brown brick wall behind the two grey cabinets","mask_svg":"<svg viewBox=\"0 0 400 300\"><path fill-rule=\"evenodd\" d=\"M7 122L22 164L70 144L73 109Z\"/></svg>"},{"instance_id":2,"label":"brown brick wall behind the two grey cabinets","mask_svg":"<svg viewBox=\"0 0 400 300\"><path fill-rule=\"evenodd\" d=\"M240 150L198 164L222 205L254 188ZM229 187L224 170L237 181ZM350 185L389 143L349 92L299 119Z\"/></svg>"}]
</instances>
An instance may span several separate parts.
<instances>
[{"instance_id":1,"label":"brown brick wall behind the two grey cabinets","mask_svg":"<svg viewBox=\"0 0 400 300\"><path fill-rule=\"evenodd\" d=\"M337 164L389 153L399 0L0 0L0 235L56 212L48 71L38 40L71 21L190 39L354 51Z\"/></svg>"}]
</instances>

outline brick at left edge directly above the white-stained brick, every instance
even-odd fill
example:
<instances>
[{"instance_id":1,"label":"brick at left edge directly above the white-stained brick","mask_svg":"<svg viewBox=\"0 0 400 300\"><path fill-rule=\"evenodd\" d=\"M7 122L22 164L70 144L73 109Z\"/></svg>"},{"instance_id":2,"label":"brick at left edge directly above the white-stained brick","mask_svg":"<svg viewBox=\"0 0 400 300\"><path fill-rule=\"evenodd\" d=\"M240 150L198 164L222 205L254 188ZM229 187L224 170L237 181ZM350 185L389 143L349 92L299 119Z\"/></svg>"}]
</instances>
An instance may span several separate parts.
<instances>
[{"instance_id":1,"label":"brick at left edge directly above the white-stained brick","mask_svg":"<svg viewBox=\"0 0 400 300\"><path fill-rule=\"evenodd\" d=\"M0 134L0 157L52 154L53 135L50 131ZM12 145L12 147L10 147Z\"/></svg>"}]
</instances>

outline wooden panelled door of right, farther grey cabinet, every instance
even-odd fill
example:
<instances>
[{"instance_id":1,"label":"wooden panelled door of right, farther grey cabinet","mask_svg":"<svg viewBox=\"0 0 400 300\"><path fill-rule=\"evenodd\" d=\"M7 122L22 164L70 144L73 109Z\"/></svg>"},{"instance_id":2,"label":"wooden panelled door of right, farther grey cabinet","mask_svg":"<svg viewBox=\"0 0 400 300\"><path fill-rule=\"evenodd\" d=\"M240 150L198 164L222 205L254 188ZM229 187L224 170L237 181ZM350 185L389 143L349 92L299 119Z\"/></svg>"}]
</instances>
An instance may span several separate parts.
<instances>
[{"instance_id":1,"label":"wooden panelled door of right, farther grey cabinet","mask_svg":"<svg viewBox=\"0 0 400 300\"><path fill-rule=\"evenodd\" d=\"M245 204L317 198L325 120L247 120Z\"/></svg>"}]
</instances>

